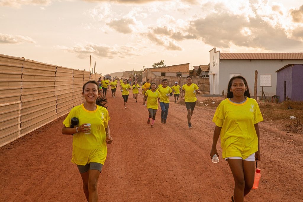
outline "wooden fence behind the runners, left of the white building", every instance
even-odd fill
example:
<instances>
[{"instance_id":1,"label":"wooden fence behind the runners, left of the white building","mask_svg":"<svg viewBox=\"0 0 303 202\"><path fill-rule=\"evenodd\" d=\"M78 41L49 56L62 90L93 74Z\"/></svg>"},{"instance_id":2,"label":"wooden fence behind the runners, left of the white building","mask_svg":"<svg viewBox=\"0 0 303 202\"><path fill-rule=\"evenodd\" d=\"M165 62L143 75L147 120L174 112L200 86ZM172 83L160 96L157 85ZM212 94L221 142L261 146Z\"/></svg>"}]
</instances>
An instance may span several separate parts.
<instances>
[{"instance_id":1,"label":"wooden fence behind the runners, left of the white building","mask_svg":"<svg viewBox=\"0 0 303 202\"><path fill-rule=\"evenodd\" d=\"M155 76L153 78L148 78L151 82L157 84L157 86L161 83L161 81L166 78L167 85L172 87L175 85L175 82L178 82L178 85L181 86L187 84L186 77L173 77L173 76ZM201 94L209 94L209 79L208 78L192 78L192 83L197 84Z\"/></svg>"}]
</instances>

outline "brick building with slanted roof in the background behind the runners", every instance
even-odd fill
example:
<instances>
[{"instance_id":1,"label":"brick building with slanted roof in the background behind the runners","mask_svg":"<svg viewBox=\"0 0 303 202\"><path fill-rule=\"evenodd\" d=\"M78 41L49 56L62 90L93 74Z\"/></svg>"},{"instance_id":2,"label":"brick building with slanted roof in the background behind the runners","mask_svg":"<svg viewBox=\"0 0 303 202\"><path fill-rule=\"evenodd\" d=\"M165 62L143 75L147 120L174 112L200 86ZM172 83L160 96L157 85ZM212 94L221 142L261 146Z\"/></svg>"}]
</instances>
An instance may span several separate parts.
<instances>
[{"instance_id":1,"label":"brick building with slanted roof in the background behind the runners","mask_svg":"<svg viewBox=\"0 0 303 202\"><path fill-rule=\"evenodd\" d=\"M187 77L189 76L189 63L145 69L142 73L142 80L146 81L147 78L154 78L155 76Z\"/></svg>"}]
</instances>

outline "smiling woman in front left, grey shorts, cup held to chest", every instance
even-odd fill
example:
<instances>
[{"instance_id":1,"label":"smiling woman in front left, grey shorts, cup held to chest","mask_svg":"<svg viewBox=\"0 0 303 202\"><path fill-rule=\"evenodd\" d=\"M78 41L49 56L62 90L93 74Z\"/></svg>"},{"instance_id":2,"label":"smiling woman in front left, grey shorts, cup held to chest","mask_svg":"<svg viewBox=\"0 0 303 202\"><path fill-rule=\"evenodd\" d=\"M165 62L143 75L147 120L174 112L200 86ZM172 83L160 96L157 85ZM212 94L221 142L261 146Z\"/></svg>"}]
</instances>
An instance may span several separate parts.
<instances>
[{"instance_id":1,"label":"smiling woman in front left, grey shorts, cup held to chest","mask_svg":"<svg viewBox=\"0 0 303 202\"><path fill-rule=\"evenodd\" d=\"M106 143L112 143L108 111L95 103L98 89L96 81L84 84L85 103L72 108L62 128L62 134L73 135L72 163L77 164L81 174L87 201L98 201L98 178L107 155ZM106 102L106 98L103 101ZM74 123L75 119L78 123Z\"/></svg>"}]
</instances>

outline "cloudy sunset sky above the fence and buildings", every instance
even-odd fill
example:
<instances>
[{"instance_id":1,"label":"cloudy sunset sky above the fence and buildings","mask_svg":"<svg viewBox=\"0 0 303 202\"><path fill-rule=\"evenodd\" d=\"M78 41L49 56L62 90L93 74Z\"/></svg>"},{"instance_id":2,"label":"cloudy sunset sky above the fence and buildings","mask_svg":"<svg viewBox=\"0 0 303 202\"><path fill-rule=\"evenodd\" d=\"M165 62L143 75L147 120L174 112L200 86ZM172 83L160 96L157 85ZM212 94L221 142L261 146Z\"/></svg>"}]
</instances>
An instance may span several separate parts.
<instances>
[{"instance_id":1,"label":"cloudy sunset sky above the fence and buildings","mask_svg":"<svg viewBox=\"0 0 303 202\"><path fill-rule=\"evenodd\" d=\"M231 3L232 2L232 3ZM0 0L0 54L96 71L190 63L209 51L303 52L299 0Z\"/></svg>"}]
</instances>

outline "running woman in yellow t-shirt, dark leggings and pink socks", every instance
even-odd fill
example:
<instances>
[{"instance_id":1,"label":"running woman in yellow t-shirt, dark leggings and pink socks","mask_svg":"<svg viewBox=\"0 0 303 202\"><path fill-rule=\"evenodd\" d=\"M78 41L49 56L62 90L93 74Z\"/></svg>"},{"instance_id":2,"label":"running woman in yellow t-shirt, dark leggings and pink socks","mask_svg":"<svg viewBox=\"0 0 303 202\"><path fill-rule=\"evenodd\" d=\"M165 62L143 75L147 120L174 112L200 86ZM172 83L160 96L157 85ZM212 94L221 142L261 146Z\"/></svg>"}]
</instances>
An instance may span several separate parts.
<instances>
[{"instance_id":1,"label":"running woman in yellow t-shirt, dark leggings and pink socks","mask_svg":"<svg viewBox=\"0 0 303 202\"><path fill-rule=\"evenodd\" d=\"M155 83L151 83L150 89L145 92L143 98L143 105L145 105L145 100L147 99L146 108L148 109L148 113L149 113L147 124L151 122L151 127L154 127L154 123L156 120L156 113L158 110L158 103L160 102L160 92L157 91L156 88L157 85Z\"/></svg>"}]
</instances>

